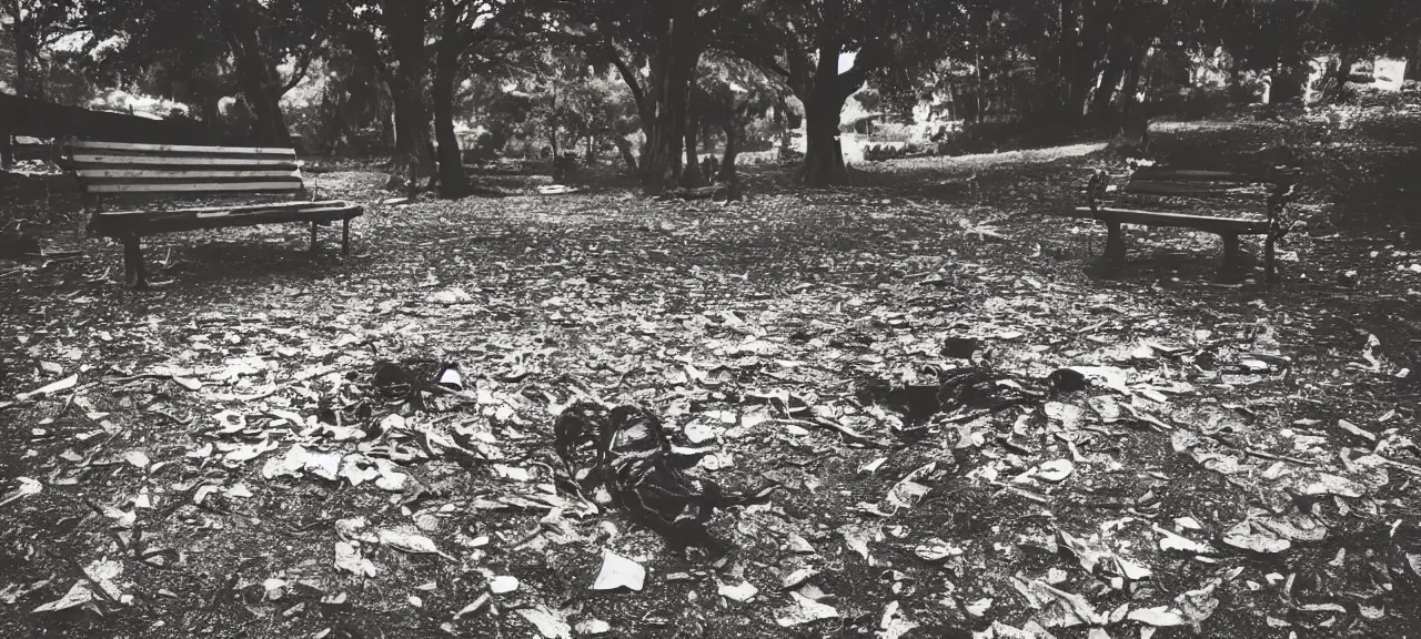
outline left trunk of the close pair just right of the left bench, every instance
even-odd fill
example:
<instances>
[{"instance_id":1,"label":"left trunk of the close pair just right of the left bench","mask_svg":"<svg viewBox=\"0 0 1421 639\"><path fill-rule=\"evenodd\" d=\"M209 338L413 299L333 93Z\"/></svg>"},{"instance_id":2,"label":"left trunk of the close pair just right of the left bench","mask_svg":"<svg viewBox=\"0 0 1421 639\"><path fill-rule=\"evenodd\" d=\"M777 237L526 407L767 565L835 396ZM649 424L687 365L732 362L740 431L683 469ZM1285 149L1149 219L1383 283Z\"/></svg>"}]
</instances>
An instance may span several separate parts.
<instances>
[{"instance_id":1,"label":"left trunk of the close pair just right of the left bench","mask_svg":"<svg viewBox=\"0 0 1421 639\"><path fill-rule=\"evenodd\" d=\"M425 111L425 20L428 0L401 0L385 4L385 30L398 68L385 82L395 104L395 160L387 189L411 195L435 176L431 153L429 115Z\"/></svg>"}]
</instances>

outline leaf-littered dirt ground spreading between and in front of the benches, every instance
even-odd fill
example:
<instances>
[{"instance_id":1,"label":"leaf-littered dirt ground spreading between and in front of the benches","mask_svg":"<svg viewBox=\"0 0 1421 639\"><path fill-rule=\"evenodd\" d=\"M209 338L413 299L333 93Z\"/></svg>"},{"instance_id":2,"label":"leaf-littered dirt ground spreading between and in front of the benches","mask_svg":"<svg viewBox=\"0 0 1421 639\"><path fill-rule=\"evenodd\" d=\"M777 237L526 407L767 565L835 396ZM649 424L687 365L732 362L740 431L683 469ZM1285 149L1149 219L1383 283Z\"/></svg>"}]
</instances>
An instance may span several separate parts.
<instances>
[{"instance_id":1,"label":"leaf-littered dirt ground spreading between and in front of the benches","mask_svg":"<svg viewBox=\"0 0 1421 639\"><path fill-rule=\"evenodd\" d=\"M755 169L730 204L595 176L392 202L344 166L315 179L367 207L351 256L298 226L153 237L145 293L54 230L82 257L0 263L0 635L1414 636L1421 109L1346 112L1157 128L1181 166L1296 151L1273 284L1184 230L1101 263L1103 229L1053 213L1123 170L1104 145L840 190ZM405 358L465 392L399 415L371 371ZM882 392L966 366L1086 385ZM710 447L699 476L783 488L712 520L728 555L676 552L558 487L551 422L588 395ZM639 589L594 588L617 558Z\"/></svg>"}]
</instances>

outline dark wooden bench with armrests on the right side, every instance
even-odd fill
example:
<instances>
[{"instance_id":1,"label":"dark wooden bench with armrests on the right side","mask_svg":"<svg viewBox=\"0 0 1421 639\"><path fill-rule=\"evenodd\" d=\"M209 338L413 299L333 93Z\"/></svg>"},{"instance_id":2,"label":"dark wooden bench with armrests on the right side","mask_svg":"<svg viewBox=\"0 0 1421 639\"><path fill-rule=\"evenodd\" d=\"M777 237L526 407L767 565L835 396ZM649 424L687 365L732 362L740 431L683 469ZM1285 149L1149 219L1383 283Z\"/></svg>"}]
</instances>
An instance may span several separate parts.
<instances>
[{"instance_id":1,"label":"dark wooden bench with armrests on the right side","mask_svg":"<svg viewBox=\"0 0 1421 639\"><path fill-rule=\"evenodd\" d=\"M1108 229L1106 257L1125 257L1121 224L1168 226L1218 234L1223 240L1223 271L1232 275L1239 266L1239 236L1265 236L1263 263L1268 278L1275 277L1273 246L1292 227L1287 203L1297 169L1275 168L1260 172L1171 169L1141 166L1131 170L1118 189L1108 187L1110 176L1097 170L1087 186L1087 206L1071 210L1073 217L1100 220ZM1128 196L1110 199L1111 193ZM1127 204L1127 206L1121 206ZM1133 206L1128 206L1133 204ZM1168 206L1168 210L1164 204ZM1263 210L1242 214L1243 209ZM1219 212L1228 212L1221 214Z\"/></svg>"}]
</instances>

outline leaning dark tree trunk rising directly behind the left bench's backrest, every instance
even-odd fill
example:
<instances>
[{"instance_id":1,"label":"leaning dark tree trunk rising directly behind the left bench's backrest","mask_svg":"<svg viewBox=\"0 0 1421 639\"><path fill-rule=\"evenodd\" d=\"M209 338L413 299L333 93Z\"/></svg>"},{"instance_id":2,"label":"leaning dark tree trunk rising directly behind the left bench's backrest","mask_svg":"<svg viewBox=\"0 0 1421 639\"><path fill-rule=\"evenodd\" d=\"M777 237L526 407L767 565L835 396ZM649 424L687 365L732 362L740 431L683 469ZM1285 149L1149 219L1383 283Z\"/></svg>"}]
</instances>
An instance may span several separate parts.
<instances>
[{"instance_id":1,"label":"leaning dark tree trunk rising directly behind the left bench's backrest","mask_svg":"<svg viewBox=\"0 0 1421 639\"><path fill-rule=\"evenodd\" d=\"M232 50L237 85L256 122L250 142L259 146L291 146L291 129L281 114L283 87L261 50L254 16L239 0L222 0L222 36Z\"/></svg>"}]
</instances>

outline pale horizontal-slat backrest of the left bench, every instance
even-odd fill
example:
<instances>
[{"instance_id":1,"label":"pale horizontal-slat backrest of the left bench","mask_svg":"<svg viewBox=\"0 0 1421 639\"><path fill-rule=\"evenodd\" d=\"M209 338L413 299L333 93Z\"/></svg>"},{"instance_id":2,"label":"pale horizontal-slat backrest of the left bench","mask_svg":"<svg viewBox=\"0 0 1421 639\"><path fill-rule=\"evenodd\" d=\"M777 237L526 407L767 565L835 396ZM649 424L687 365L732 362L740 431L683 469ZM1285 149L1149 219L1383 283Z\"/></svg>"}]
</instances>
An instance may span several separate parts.
<instances>
[{"instance_id":1,"label":"pale horizontal-slat backrest of the left bench","mask_svg":"<svg viewBox=\"0 0 1421 639\"><path fill-rule=\"evenodd\" d=\"M68 160L88 195L306 192L294 149L70 142Z\"/></svg>"}]
</instances>

